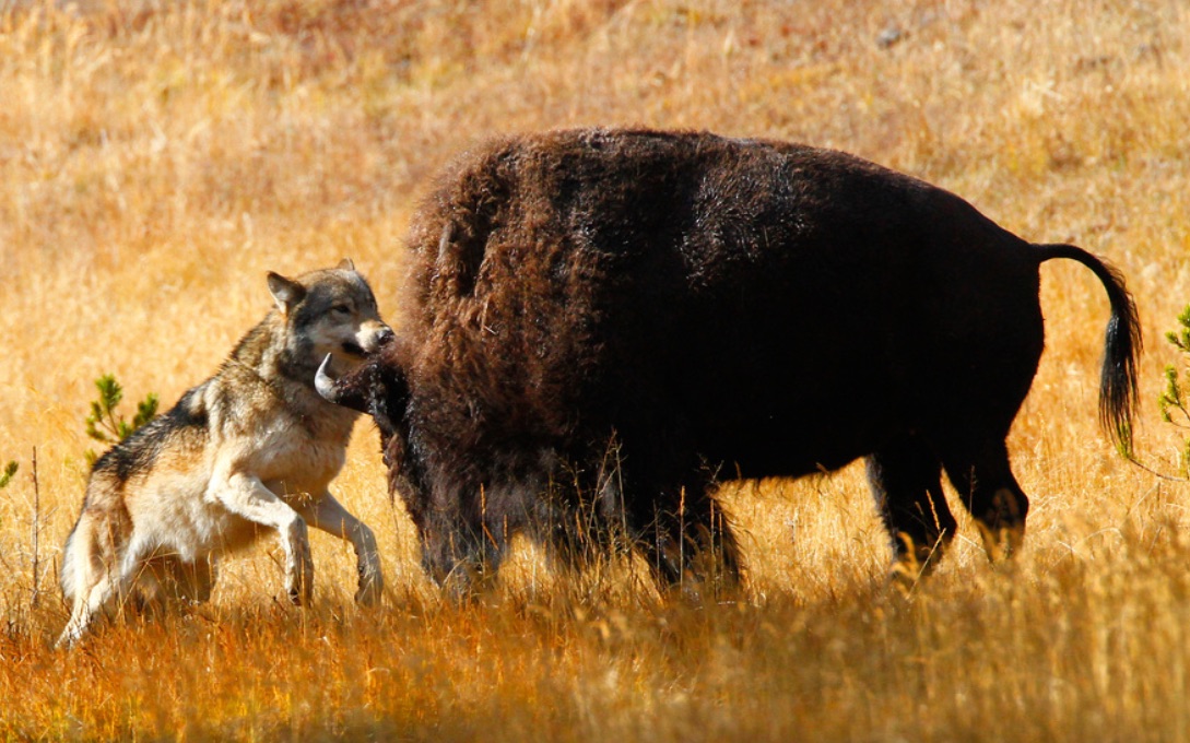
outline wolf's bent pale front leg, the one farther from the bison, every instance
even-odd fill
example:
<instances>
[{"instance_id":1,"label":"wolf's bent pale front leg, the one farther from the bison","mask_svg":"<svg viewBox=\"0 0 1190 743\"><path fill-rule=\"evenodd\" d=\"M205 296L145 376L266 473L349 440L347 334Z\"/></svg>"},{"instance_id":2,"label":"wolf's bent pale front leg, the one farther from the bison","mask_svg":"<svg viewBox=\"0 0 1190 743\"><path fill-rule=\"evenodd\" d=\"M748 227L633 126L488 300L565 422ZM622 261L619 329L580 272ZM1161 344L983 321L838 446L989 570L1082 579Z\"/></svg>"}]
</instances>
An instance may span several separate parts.
<instances>
[{"instance_id":1,"label":"wolf's bent pale front leg, the one farther from the bison","mask_svg":"<svg viewBox=\"0 0 1190 743\"><path fill-rule=\"evenodd\" d=\"M286 554L286 592L294 604L308 606L314 591L314 562L302 517L258 477L240 472L212 477L208 497L236 516L277 531Z\"/></svg>"}]
</instances>

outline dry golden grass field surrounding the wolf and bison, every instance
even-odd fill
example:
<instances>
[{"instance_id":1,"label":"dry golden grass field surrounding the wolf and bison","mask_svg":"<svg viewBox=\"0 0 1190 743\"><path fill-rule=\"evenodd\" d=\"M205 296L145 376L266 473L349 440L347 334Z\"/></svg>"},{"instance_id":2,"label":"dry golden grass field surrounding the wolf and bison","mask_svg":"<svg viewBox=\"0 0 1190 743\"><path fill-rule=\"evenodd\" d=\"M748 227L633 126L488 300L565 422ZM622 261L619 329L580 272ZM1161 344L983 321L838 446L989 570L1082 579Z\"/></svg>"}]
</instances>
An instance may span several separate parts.
<instances>
[{"instance_id":1,"label":"dry golden grass field surrounding the wolf and bison","mask_svg":"<svg viewBox=\"0 0 1190 743\"><path fill-rule=\"evenodd\" d=\"M315 604L288 606L265 541L193 614L50 648L94 380L171 405L268 311L269 269L350 256L395 314L418 195L497 132L834 146L1111 260L1147 341L1139 456L1176 474L1155 399L1190 304L1186 39L1180 0L0 0L0 739L1190 739L1190 486L1097 429L1107 300L1069 262L1042 269L1009 441L1033 498L1010 564L963 522L902 597L852 466L726 486L743 601L525 548L459 606L361 423L334 489L377 532L383 607L353 606L321 535Z\"/></svg>"}]
</instances>

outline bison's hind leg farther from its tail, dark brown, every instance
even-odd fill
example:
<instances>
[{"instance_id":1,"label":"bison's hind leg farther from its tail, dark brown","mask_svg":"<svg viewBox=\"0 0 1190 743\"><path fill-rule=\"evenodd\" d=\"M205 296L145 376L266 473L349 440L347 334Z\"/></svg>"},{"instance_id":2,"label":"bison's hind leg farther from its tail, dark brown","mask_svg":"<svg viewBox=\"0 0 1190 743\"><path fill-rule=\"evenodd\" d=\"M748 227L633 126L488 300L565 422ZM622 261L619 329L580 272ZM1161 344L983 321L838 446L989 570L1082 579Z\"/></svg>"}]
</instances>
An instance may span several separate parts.
<instances>
[{"instance_id":1,"label":"bison's hind leg farther from its tail, dark brown","mask_svg":"<svg viewBox=\"0 0 1190 743\"><path fill-rule=\"evenodd\" d=\"M938 455L904 436L868 457L868 480L892 542L895 580L912 586L928 574L954 537Z\"/></svg>"}]
</instances>

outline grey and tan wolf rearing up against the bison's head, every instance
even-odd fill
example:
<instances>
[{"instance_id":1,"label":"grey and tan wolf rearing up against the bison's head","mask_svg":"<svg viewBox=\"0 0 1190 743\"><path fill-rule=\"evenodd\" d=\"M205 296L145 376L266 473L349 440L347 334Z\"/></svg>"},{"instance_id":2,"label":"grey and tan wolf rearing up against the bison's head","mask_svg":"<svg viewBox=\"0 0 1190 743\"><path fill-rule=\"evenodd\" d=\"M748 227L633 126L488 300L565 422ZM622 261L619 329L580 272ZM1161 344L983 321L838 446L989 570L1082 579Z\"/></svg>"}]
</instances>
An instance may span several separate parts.
<instances>
[{"instance_id":1,"label":"grey and tan wolf rearing up against the bison's head","mask_svg":"<svg viewBox=\"0 0 1190 743\"><path fill-rule=\"evenodd\" d=\"M284 551L286 591L308 605L307 525L351 542L372 605L383 589L371 529L327 491L357 413L314 388L319 362L349 373L394 333L350 260L287 279L268 274L275 307L219 370L93 466L65 543L62 594L75 644L125 598L148 606L205 601L219 558L269 530Z\"/></svg>"}]
</instances>

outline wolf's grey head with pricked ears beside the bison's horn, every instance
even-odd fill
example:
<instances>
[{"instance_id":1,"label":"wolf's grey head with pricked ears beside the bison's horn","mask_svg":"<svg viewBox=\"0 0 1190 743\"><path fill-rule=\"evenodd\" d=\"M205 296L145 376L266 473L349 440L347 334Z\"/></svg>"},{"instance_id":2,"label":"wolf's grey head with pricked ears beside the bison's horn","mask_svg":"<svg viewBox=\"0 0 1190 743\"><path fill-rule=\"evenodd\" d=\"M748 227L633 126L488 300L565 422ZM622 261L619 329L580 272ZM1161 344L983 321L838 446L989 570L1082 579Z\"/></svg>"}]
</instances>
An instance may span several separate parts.
<instances>
[{"instance_id":1,"label":"wolf's grey head with pricked ears beside the bison's horn","mask_svg":"<svg viewBox=\"0 0 1190 743\"><path fill-rule=\"evenodd\" d=\"M287 345L303 364L317 366L330 354L337 367L351 368L393 339L371 287L350 260L296 279L270 271L269 292L284 318Z\"/></svg>"}]
</instances>

